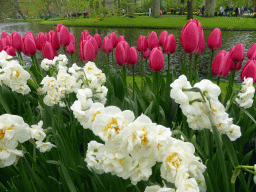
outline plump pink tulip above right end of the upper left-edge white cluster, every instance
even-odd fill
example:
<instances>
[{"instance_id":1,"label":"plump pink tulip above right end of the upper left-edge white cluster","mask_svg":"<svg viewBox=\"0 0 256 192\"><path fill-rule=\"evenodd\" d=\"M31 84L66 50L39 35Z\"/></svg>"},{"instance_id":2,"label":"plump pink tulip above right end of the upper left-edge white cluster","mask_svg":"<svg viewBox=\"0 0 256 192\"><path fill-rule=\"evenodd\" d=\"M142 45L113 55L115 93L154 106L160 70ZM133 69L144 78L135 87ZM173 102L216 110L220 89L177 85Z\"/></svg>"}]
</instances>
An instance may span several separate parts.
<instances>
[{"instance_id":1,"label":"plump pink tulip above right end of the upper left-edge white cluster","mask_svg":"<svg viewBox=\"0 0 256 192\"><path fill-rule=\"evenodd\" d=\"M36 43L30 35L22 37L22 52L29 56L36 54Z\"/></svg>"}]
</instances>

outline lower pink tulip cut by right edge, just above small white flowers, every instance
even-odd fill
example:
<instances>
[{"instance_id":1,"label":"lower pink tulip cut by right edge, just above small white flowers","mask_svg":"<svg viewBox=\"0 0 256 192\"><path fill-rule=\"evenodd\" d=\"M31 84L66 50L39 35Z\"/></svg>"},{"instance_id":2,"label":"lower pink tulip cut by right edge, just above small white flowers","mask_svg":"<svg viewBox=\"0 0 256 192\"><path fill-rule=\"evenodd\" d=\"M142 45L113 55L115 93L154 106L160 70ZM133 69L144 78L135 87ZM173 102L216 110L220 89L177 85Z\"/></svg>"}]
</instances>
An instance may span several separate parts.
<instances>
[{"instance_id":1,"label":"lower pink tulip cut by right edge, just above small white flowers","mask_svg":"<svg viewBox=\"0 0 256 192\"><path fill-rule=\"evenodd\" d=\"M244 78L251 77L253 79L253 83L256 82L256 63L255 60L249 60L243 67L240 78L244 81Z\"/></svg>"}]
</instances>

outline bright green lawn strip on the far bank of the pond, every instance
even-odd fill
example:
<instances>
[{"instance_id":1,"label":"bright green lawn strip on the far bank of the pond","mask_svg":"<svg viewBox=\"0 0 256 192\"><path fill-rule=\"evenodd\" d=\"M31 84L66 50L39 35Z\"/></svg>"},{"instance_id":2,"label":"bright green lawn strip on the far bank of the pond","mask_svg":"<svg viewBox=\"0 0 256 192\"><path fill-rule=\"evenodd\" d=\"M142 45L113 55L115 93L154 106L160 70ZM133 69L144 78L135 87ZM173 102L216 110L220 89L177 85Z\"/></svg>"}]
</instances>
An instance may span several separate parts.
<instances>
[{"instance_id":1,"label":"bright green lawn strip on the far bank of the pond","mask_svg":"<svg viewBox=\"0 0 256 192\"><path fill-rule=\"evenodd\" d=\"M182 28L187 23L186 15L164 15L161 18L137 16L129 18L125 16L112 16L100 21L97 18L65 18L63 20L47 20L41 24L88 27L134 27L134 28ZM199 20L203 28L220 28L226 30L256 30L255 19L242 17L213 17L205 18L194 16Z\"/></svg>"}]
</instances>

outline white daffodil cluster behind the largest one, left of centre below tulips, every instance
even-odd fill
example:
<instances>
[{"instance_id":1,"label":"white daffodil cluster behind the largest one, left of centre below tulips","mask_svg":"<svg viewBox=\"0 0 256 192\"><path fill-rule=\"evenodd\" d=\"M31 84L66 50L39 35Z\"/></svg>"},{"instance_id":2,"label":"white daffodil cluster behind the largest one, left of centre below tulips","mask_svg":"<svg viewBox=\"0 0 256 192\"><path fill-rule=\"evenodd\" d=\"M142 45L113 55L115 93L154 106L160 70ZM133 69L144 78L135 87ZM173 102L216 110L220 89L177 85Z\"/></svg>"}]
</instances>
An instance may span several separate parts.
<instances>
[{"instance_id":1,"label":"white daffodil cluster behind the largest one, left of centre below tulips","mask_svg":"<svg viewBox=\"0 0 256 192\"><path fill-rule=\"evenodd\" d=\"M52 63L51 65L57 66L56 69L58 69L56 77L47 75L41 82L43 87L38 89L40 94L46 94L44 97L46 105L59 104L65 107L66 95L72 92L77 93L76 108L80 104L81 107L78 108L82 111L88 109L93 101L105 104L107 88L102 84L106 82L106 76L93 62L87 63L84 68L73 64L69 69L65 66L67 60L64 56L59 55L52 61L44 59L42 64L46 62L48 65L45 66ZM86 96L87 99L79 99L82 96Z\"/></svg>"}]
</instances>

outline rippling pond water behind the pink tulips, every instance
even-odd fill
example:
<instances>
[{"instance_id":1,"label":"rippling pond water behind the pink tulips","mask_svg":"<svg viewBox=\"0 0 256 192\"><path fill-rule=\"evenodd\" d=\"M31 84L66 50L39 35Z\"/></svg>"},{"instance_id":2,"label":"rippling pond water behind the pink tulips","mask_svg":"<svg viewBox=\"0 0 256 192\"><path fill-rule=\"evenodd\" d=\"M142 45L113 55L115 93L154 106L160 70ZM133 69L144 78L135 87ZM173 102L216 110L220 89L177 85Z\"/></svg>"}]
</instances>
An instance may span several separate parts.
<instances>
[{"instance_id":1,"label":"rippling pond water behind the pink tulips","mask_svg":"<svg viewBox=\"0 0 256 192\"><path fill-rule=\"evenodd\" d=\"M170 21L171 22L171 21ZM140 35L147 36L150 34L152 29L135 29L135 28L92 28L92 27L67 27L70 32L72 32L76 38L76 58L77 63L82 65L82 62L79 58L79 42L80 42L80 35L83 30L88 30L89 33L93 36L94 34L98 33L100 34L102 40L106 35L109 35L111 32L115 32L117 37L124 35L125 40L129 43L130 46L137 46L137 40L140 37ZM3 31L7 32L8 34L11 34L13 31L17 31L21 35L24 35L28 31L32 31L35 35L39 32L49 32L50 30L55 30L56 26L50 26L50 25L40 25L37 23L26 23L26 22L14 22L14 23L0 23L0 33ZM180 43L180 33L181 30L178 29L153 29L157 34L158 37L161 34L163 30L166 30L169 34L173 34L177 41L177 50L174 54L171 55L171 69L176 69L177 74L180 74L180 68L181 68L181 62L183 57L183 49L181 47ZM207 39L211 33L211 30L204 30L205 34L205 43L207 42ZM222 31L222 47L220 50L224 49L226 51L230 51L230 49L236 45L237 43L242 43L245 48L245 54L247 54L248 49L251 47L251 45L255 42L256 39L256 32L254 31ZM220 50L217 50L216 53L218 53ZM62 53L62 50L58 51L58 54ZM216 55L215 53L215 55ZM99 61L100 66L103 66L106 64L106 54L102 52L102 50L99 51ZM207 78L208 74L208 67L210 65L210 57L211 57L211 50L205 46L205 51L199 56L198 64L199 64L199 76L200 79ZM24 60L26 63L31 63L30 57L24 56ZM41 60L43 58L42 53L40 51L37 52L37 58ZM111 60L111 58L110 58ZM243 65L247 61L247 57L245 57L245 60L243 62ZM167 69L167 56L165 55L165 69ZM188 61L187 61L188 63ZM121 69L117 64L117 69ZM136 74L139 75L140 73L140 65L135 66ZM240 72L236 75L236 80L238 82L241 82L240 80ZM151 70L148 68L147 73L151 74ZM131 66L128 66L128 74L131 75ZM164 75L166 72L164 71ZM223 81L227 81L228 77L223 78Z\"/></svg>"}]
</instances>

